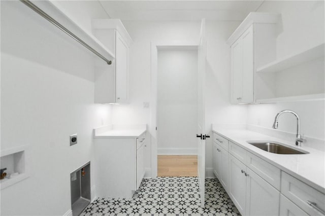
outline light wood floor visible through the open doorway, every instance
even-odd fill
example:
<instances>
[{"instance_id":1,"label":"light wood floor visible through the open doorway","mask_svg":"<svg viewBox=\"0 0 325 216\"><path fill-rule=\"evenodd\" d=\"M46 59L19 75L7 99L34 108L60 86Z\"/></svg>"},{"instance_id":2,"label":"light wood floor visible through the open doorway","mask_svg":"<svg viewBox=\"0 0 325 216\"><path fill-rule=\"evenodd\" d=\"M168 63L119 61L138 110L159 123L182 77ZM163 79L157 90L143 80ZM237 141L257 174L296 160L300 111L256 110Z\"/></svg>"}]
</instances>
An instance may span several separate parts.
<instances>
[{"instance_id":1,"label":"light wood floor visible through the open doorway","mask_svg":"<svg viewBox=\"0 0 325 216\"><path fill-rule=\"evenodd\" d=\"M198 176L197 155L158 155L158 176Z\"/></svg>"}]
</instances>

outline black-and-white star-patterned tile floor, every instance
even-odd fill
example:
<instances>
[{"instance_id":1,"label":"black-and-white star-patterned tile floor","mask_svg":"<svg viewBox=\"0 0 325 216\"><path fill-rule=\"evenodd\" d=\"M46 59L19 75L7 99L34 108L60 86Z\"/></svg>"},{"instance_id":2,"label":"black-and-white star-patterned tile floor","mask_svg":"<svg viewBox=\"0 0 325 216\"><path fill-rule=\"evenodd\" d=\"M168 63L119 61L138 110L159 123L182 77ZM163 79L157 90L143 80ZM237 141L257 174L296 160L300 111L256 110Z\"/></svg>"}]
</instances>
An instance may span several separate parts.
<instances>
[{"instance_id":1,"label":"black-and-white star-patterned tile floor","mask_svg":"<svg viewBox=\"0 0 325 216\"><path fill-rule=\"evenodd\" d=\"M80 215L240 215L218 179L206 179L205 190L201 208L197 177L143 179L132 199L98 198Z\"/></svg>"}]
</instances>

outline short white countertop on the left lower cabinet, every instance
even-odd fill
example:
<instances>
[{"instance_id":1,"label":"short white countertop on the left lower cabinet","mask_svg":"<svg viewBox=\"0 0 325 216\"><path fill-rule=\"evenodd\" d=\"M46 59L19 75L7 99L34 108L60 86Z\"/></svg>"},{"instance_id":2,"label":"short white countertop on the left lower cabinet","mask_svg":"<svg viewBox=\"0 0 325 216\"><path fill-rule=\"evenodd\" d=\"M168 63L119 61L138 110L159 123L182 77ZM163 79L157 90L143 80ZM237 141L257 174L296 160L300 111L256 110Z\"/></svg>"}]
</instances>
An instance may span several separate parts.
<instances>
[{"instance_id":1,"label":"short white countertop on the left lower cabinet","mask_svg":"<svg viewBox=\"0 0 325 216\"><path fill-rule=\"evenodd\" d=\"M136 126L116 126L105 125L99 128L94 128L94 138L138 138L146 132L145 125Z\"/></svg>"}]
</instances>

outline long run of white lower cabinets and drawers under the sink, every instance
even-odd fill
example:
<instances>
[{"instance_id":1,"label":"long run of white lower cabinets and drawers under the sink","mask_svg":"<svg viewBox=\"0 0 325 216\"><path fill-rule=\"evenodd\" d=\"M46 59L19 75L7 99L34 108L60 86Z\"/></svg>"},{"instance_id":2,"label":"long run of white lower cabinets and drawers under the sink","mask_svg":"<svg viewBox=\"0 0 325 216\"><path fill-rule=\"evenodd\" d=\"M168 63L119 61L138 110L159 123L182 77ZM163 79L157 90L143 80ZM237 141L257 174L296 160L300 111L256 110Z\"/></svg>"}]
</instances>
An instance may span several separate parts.
<instances>
[{"instance_id":1,"label":"long run of white lower cabinets and drawers under the sink","mask_svg":"<svg viewBox=\"0 0 325 216\"><path fill-rule=\"evenodd\" d=\"M325 215L325 194L221 135L214 137L214 173L242 215ZM228 151L220 140L229 143Z\"/></svg>"}]
</instances>

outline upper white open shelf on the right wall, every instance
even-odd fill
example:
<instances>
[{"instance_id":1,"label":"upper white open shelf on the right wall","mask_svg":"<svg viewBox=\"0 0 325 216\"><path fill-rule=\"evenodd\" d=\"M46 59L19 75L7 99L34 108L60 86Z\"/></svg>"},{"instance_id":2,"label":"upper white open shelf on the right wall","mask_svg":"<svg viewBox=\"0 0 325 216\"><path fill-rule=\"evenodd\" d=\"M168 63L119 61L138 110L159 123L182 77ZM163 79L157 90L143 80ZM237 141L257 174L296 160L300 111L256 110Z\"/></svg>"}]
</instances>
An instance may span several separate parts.
<instances>
[{"instance_id":1,"label":"upper white open shelf on the right wall","mask_svg":"<svg viewBox=\"0 0 325 216\"><path fill-rule=\"evenodd\" d=\"M294 55L275 60L256 69L256 73L274 73L324 56L324 43Z\"/></svg>"}]
</instances>

